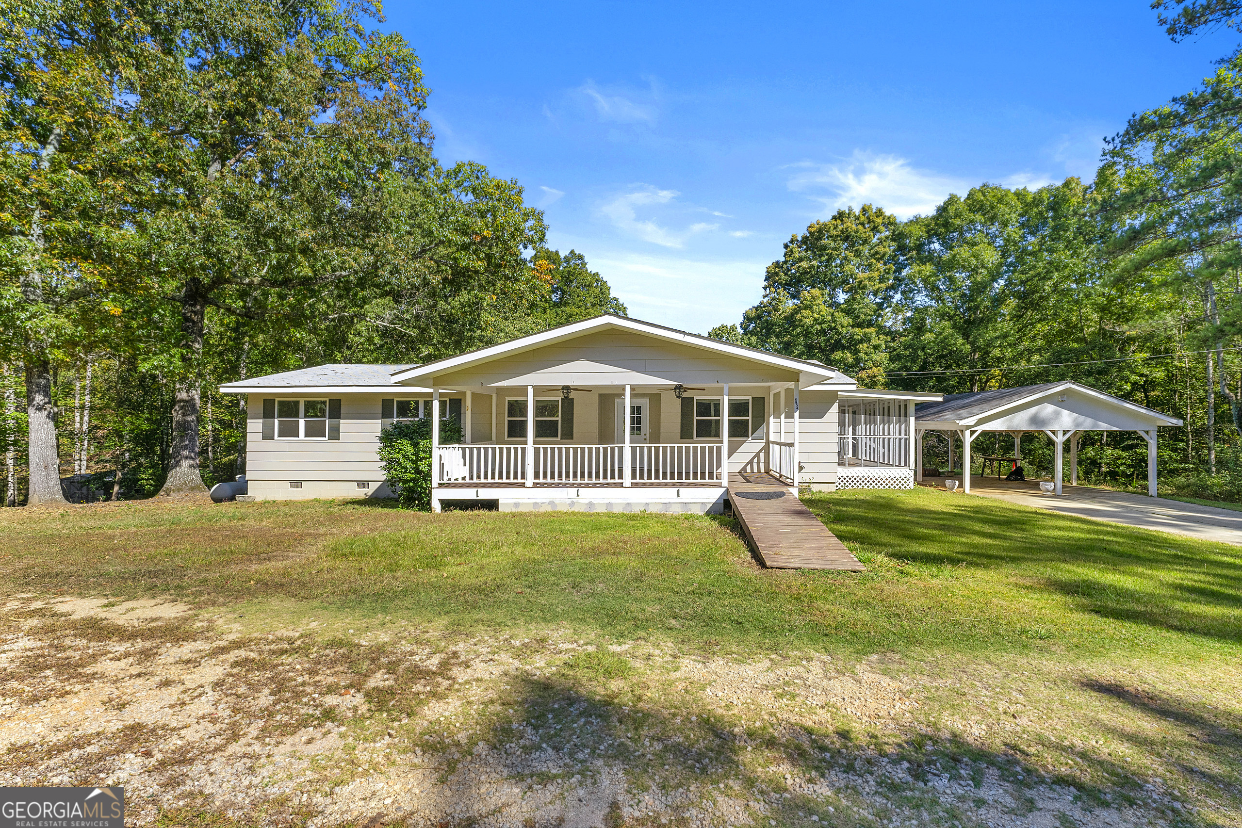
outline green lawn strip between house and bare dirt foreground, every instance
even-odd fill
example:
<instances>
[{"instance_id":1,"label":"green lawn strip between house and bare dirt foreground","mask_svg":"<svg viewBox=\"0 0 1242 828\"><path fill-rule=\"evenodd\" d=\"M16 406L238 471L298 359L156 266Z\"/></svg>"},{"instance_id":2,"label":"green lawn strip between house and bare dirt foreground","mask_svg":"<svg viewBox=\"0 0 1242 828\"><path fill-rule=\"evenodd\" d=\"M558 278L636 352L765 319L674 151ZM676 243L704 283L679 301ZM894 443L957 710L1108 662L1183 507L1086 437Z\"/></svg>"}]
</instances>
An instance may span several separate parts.
<instances>
[{"instance_id":1,"label":"green lawn strip between house and bare dirt foreground","mask_svg":"<svg viewBox=\"0 0 1242 828\"><path fill-rule=\"evenodd\" d=\"M866 572L759 569L725 519L302 502L0 513L0 582L739 652L1240 652L1237 547L925 488L806 503Z\"/></svg>"}]
</instances>

